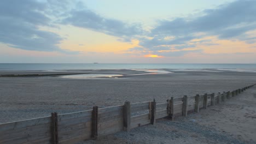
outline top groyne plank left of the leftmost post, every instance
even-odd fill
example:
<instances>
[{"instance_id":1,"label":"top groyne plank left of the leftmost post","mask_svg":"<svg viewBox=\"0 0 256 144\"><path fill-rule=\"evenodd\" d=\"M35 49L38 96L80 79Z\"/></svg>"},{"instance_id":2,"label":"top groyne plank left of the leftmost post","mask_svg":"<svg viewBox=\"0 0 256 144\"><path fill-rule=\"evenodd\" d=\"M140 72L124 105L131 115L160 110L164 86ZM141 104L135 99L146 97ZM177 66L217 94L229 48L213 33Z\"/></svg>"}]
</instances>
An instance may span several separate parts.
<instances>
[{"instance_id":1,"label":"top groyne plank left of the leftmost post","mask_svg":"<svg viewBox=\"0 0 256 144\"><path fill-rule=\"evenodd\" d=\"M10 122L10 123L3 123L0 124L0 132L1 131L8 131L26 127L32 127L35 125L46 124L51 122L51 117L41 117L41 118L33 118L27 119L25 121L18 121L18 122Z\"/></svg>"}]
</instances>

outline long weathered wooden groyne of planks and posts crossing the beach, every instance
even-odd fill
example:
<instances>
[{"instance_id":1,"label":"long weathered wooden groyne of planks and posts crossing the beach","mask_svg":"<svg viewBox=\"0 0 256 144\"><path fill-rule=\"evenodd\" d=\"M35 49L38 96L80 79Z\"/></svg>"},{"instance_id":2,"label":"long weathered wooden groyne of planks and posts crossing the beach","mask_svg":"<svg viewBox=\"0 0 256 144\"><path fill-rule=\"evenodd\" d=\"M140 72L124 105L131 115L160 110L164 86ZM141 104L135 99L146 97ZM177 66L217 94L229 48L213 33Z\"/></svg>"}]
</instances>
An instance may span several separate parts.
<instances>
[{"instance_id":1,"label":"long weathered wooden groyne of planks and posts crossing the beach","mask_svg":"<svg viewBox=\"0 0 256 144\"><path fill-rule=\"evenodd\" d=\"M146 101L144 103L98 108L92 110L58 115L51 113L49 117L27 119L25 121L0 124L0 143L75 143L98 136L130 131L146 124L155 124L156 119L187 116L199 112L235 97L254 85L236 89L235 91L196 94L183 98L168 99L166 103Z\"/></svg>"}]
</instances>

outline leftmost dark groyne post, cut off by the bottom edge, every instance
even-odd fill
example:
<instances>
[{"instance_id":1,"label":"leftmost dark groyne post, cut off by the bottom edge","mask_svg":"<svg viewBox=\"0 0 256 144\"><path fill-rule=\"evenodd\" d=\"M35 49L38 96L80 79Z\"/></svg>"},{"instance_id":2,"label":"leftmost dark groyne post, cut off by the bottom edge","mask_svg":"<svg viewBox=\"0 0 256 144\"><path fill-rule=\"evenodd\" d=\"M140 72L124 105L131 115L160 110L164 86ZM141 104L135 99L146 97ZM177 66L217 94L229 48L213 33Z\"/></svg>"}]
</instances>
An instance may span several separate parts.
<instances>
[{"instance_id":1,"label":"leftmost dark groyne post, cut off by the bottom edge","mask_svg":"<svg viewBox=\"0 0 256 144\"><path fill-rule=\"evenodd\" d=\"M52 112L51 113L51 133L52 133L52 143L53 144L59 143L58 114L57 114L57 112Z\"/></svg>"}]
</instances>

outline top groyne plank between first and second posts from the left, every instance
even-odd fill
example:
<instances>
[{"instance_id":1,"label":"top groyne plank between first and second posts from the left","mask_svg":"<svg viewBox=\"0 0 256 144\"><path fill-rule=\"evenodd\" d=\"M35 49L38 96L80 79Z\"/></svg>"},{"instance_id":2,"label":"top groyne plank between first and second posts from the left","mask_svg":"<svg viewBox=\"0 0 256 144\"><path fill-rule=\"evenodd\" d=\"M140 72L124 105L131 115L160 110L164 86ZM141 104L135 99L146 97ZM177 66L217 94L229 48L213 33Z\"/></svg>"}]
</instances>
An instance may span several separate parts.
<instances>
[{"instance_id":1,"label":"top groyne plank between first and second posts from the left","mask_svg":"<svg viewBox=\"0 0 256 144\"><path fill-rule=\"evenodd\" d=\"M58 121L67 121L69 119L81 118L81 117L91 117L92 110L88 111L80 111L80 112L72 112L66 113L58 116Z\"/></svg>"}]
</instances>

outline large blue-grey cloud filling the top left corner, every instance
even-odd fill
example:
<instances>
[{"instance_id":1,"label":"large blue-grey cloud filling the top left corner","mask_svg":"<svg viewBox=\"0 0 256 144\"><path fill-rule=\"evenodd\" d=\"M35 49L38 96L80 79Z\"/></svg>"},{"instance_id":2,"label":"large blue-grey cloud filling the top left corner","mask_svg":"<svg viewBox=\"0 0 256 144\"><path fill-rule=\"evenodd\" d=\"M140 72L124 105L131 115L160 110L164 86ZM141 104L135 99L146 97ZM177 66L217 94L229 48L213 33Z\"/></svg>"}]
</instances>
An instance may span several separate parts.
<instances>
[{"instance_id":1,"label":"large blue-grey cloud filling the top left corner","mask_svg":"<svg viewBox=\"0 0 256 144\"><path fill-rule=\"evenodd\" d=\"M0 1L0 42L24 50L63 51L57 46L60 35L39 29L51 25L47 7L38 1Z\"/></svg>"}]
</instances>

